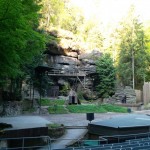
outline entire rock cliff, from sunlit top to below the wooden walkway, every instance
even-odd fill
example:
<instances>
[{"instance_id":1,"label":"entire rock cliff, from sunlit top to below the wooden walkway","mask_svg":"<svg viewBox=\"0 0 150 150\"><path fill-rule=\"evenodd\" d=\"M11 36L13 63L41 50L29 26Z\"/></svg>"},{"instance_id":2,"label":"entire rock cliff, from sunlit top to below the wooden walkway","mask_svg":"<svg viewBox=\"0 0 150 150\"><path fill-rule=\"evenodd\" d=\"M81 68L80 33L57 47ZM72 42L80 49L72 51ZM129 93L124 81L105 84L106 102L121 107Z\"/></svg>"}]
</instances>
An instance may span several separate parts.
<instances>
[{"instance_id":1,"label":"entire rock cliff, from sunlit top to below the wooden walkway","mask_svg":"<svg viewBox=\"0 0 150 150\"><path fill-rule=\"evenodd\" d=\"M51 34L56 38L61 37L59 43L51 41L47 45L47 51L45 52L45 62L51 68L51 74L62 74L62 76L59 77L52 77L55 80L55 84L61 86L63 85L62 83L66 84L66 82L71 82L73 86L75 82L81 84L82 90L84 90L83 92L86 95L85 97L88 99L89 96L91 96L89 90L91 90L93 85L93 80L90 76L96 73L95 58L100 57L101 53L97 50L93 50L89 53L85 52L84 49L79 47L78 43L75 42L72 34L67 33L68 36L64 36L64 32L62 34L63 36L57 32L51 32ZM63 74L66 73L83 76L79 76L80 79L77 76L67 78L63 76ZM85 78L84 75L86 75ZM59 81L63 82L60 84ZM72 85L70 87L72 87Z\"/></svg>"}]
</instances>

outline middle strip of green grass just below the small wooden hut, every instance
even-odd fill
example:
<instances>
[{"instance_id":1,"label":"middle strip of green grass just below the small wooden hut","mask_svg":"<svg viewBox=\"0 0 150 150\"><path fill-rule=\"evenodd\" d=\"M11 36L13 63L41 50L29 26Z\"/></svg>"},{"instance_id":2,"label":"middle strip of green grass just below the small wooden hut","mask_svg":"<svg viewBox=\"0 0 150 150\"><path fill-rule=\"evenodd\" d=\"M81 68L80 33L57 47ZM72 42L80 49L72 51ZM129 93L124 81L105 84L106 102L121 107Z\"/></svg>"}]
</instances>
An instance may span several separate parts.
<instances>
[{"instance_id":1,"label":"middle strip of green grass just below the small wooden hut","mask_svg":"<svg viewBox=\"0 0 150 150\"><path fill-rule=\"evenodd\" d=\"M67 109L71 113L105 113L103 107L97 105L68 105Z\"/></svg>"}]
</instances>

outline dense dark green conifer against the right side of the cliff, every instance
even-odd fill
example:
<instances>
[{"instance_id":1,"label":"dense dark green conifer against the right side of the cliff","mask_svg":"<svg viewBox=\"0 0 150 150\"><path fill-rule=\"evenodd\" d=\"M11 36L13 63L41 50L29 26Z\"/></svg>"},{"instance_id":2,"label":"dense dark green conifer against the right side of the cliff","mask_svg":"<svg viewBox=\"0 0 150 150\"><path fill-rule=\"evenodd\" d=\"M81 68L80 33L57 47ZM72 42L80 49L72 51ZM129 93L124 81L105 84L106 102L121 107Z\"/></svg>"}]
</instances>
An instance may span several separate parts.
<instances>
[{"instance_id":1,"label":"dense dark green conifer against the right side of the cliff","mask_svg":"<svg viewBox=\"0 0 150 150\"><path fill-rule=\"evenodd\" d=\"M115 68L109 54L104 54L96 61L96 72L98 77L94 82L99 96L106 98L113 95L115 88Z\"/></svg>"}]
</instances>

